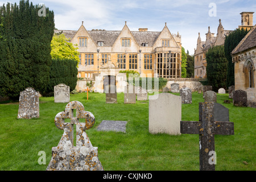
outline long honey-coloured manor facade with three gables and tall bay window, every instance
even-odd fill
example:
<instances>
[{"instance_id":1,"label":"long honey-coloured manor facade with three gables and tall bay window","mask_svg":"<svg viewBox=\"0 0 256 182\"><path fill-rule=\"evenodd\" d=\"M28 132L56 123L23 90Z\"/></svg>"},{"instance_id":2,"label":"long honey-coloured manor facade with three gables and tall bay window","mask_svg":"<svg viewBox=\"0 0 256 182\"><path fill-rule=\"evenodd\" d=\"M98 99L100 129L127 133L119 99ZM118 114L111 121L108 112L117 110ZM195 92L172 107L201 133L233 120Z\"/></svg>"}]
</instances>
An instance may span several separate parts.
<instances>
[{"instance_id":1,"label":"long honey-coloured manor facade with three gables and tall bay window","mask_svg":"<svg viewBox=\"0 0 256 182\"><path fill-rule=\"evenodd\" d=\"M73 45L78 46L80 63L78 77L92 78L111 60L119 71L134 70L144 77L181 77L181 35L171 34L167 25L160 32L139 28L130 31L127 23L122 30L86 30L82 22L79 30L63 32Z\"/></svg>"}]
</instances>

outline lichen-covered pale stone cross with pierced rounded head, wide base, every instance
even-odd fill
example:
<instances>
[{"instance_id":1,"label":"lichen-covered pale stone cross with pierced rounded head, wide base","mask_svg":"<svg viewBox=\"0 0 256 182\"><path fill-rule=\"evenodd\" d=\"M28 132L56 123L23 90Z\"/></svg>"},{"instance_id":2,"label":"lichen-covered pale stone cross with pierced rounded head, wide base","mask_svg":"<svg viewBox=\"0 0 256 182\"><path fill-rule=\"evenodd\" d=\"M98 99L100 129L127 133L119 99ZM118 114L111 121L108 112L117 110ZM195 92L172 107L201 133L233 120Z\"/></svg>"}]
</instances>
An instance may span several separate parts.
<instances>
[{"instance_id":1,"label":"lichen-covered pale stone cross with pierced rounded head, wide base","mask_svg":"<svg viewBox=\"0 0 256 182\"><path fill-rule=\"evenodd\" d=\"M65 119L70 122L65 122ZM85 122L80 122L84 120ZM55 117L55 125L64 130L57 147L52 147L52 158L47 171L102 171L98 147L93 147L85 130L93 127L94 115L84 110L79 101L67 104ZM73 127L76 125L76 146L73 144Z\"/></svg>"}]
</instances>

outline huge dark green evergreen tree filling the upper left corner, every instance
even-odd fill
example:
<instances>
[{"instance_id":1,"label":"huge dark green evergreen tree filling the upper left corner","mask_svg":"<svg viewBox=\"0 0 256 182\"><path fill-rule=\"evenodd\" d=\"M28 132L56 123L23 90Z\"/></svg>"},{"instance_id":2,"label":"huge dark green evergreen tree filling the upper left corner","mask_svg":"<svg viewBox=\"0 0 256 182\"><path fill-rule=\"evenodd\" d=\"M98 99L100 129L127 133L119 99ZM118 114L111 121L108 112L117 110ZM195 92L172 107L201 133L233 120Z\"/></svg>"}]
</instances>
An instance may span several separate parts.
<instances>
[{"instance_id":1,"label":"huge dark green evergreen tree filling the upper left corner","mask_svg":"<svg viewBox=\"0 0 256 182\"><path fill-rule=\"evenodd\" d=\"M54 14L46 8L39 16L38 6L20 1L0 7L3 38L0 39L0 95L13 100L28 86L44 93L49 81ZM0 30L1 31L1 30Z\"/></svg>"}]
</instances>

